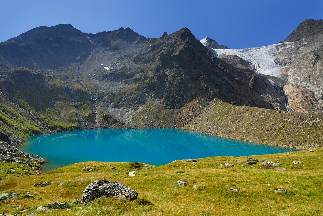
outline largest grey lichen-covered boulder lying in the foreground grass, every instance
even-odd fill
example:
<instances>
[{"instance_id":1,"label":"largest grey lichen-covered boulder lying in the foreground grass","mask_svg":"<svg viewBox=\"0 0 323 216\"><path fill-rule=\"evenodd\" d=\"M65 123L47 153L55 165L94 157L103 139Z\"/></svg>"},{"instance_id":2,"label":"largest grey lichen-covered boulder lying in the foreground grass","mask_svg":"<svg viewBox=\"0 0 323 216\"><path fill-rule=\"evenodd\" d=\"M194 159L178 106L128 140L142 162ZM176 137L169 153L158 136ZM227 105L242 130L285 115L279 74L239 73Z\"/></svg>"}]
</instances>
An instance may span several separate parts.
<instances>
[{"instance_id":1,"label":"largest grey lichen-covered boulder lying in the foreground grass","mask_svg":"<svg viewBox=\"0 0 323 216\"><path fill-rule=\"evenodd\" d=\"M120 182L109 182L106 179L97 180L89 184L82 193L81 203L89 204L95 198L113 196L119 199L137 199L138 192Z\"/></svg>"}]
</instances>

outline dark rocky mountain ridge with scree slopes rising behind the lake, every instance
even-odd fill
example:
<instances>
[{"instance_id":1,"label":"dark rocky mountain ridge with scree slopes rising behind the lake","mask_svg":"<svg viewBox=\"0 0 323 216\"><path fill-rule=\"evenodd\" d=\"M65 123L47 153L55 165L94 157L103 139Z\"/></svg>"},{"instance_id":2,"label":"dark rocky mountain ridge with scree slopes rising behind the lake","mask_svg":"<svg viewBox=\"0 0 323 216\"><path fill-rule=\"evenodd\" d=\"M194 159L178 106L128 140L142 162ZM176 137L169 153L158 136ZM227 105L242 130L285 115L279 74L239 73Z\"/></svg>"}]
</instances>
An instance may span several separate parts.
<instances>
[{"instance_id":1,"label":"dark rocky mountain ridge with scree slopes rising behind the lake","mask_svg":"<svg viewBox=\"0 0 323 216\"><path fill-rule=\"evenodd\" d=\"M89 34L71 25L40 26L9 39L0 43L1 130L23 138L89 128L178 128L215 99L287 109L286 79L256 73L237 55L218 58L211 51L228 47L206 39L209 47L187 28L146 38L130 28ZM293 47L279 49L282 64Z\"/></svg>"}]
</instances>

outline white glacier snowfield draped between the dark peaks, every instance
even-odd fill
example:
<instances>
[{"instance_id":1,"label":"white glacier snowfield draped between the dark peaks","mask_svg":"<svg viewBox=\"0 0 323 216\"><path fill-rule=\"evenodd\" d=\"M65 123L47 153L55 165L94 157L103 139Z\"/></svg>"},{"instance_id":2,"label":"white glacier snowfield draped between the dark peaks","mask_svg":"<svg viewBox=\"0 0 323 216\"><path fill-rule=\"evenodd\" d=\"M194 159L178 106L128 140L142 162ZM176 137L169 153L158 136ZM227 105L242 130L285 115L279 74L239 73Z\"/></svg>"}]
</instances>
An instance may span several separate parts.
<instances>
[{"instance_id":1,"label":"white glacier snowfield draped between the dark peaks","mask_svg":"<svg viewBox=\"0 0 323 216\"><path fill-rule=\"evenodd\" d=\"M206 39L200 40L205 46ZM281 52L283 49L292 47L295 42L286 42L280 44L273 44L261 47L252 47L246 49L212 49L215 56L219 55L237 55L251 66L255 68L255 71L260 74L266 74L271 76L280 76L280 71L284 66L276 64L275 55Z\"/></svg>"}]
</instances>

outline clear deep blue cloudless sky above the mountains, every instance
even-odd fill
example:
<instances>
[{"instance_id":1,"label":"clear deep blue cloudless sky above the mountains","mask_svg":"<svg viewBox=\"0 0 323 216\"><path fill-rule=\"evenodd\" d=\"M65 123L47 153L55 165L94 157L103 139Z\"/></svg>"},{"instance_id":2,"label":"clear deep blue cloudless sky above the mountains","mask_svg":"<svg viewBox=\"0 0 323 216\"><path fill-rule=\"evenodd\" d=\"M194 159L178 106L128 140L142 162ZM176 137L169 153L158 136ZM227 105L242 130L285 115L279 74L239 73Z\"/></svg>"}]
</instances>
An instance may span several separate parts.
<instances>
[{"instance_id":1,"label":"clear deep blue cloudless sky above the mountains","mask_svg":"<svg viewBox=\"0 0 323 216\"><path fill-rule=\"evenodd\" d=\"M323 0L0 0L0 41L40 25L97 33L130 27L161 37L188 27L230 48L276 44L304 19L323 19Z\"/></svg>"}]
</instances>

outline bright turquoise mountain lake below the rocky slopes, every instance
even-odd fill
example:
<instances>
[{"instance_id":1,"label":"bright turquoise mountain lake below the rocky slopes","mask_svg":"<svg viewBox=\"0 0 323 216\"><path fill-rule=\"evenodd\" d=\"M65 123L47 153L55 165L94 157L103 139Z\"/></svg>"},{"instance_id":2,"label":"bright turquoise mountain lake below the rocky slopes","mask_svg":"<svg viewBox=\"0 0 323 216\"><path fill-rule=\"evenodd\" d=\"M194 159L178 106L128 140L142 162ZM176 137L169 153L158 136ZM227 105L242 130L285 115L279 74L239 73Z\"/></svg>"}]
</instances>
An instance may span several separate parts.
<instances>
[{"instance_id":1,"label":"bright turquoise mountain lake below the rocky slopes","mask_svg":"<svg viewBox=\"0 0 323 216\"><path fill-rule=\"evenodd\" d=\"M19 149L44 158L43 172L84 161L159 166L180 159L297 151L179 129L83 130L35 135L27 140Z\"/></svg>"}]
</instances>

